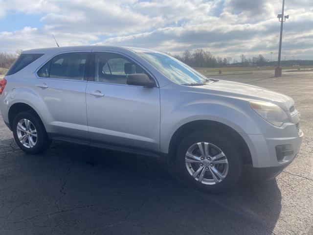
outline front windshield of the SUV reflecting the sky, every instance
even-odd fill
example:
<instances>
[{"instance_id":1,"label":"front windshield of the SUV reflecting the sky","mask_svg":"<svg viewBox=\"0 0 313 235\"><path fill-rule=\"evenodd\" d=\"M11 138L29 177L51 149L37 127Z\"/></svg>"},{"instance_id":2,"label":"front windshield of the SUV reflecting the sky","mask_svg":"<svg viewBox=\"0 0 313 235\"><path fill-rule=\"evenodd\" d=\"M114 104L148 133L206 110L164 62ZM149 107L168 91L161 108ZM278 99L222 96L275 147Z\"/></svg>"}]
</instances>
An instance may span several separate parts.
<instances>
[{"instance_id":1,"label":"front windshield of the SUV reflecting the sky","mask_svg":"<svg viewBox=\"0 0 313 235\"><path fill-rule=\"evenodd\" d=\"M173 82L181 85L196 85L207 81L204 75L172 56L158 52L141 52L138 55L147 60Z\"/></svg>"}]
</instances>

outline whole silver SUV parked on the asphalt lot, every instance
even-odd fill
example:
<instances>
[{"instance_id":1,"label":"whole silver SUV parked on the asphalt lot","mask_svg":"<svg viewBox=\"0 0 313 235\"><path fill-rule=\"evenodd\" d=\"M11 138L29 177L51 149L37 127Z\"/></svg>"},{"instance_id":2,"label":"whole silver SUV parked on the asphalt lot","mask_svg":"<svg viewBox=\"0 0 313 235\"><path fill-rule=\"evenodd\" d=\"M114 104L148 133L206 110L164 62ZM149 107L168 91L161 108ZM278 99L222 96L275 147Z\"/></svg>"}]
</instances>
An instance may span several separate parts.
<instances>
[{"instance_id":1,"label":"whole silver SUV parked on the asphalt lot","mask_svg":"<svg viewBox=\"0 0 313 235\"><path fill-rule=\"evenodd\" d=\"M26 153L57 139L153 155L209 192L231 188L244 164L275 177L303 136L290 97L140 48L24 51L0 80L0 111Z\"/></svg>"}]
</instances>

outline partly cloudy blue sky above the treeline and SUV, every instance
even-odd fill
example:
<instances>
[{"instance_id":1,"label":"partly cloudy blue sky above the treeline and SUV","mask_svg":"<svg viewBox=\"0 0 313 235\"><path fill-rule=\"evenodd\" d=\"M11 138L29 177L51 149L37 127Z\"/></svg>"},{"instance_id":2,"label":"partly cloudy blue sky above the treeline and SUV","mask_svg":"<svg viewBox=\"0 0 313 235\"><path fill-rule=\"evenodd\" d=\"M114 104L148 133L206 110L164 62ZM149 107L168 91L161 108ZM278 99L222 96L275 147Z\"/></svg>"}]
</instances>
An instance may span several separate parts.
<instances>
[{"instance_id":1,"label":"partly cloudy blue sky above the treeline and SUV","mask_svg":"<svg viewBox=\"0 0 313 235\"><path fill-rule=\"evenodd\" d=\"M277 60L282 0L0 0L0 51L60 46L203 48ZM286 0L282 60L313 59L313 0ZM292 57L294 56L294 57Z\"/></svg>"}]
</instances>

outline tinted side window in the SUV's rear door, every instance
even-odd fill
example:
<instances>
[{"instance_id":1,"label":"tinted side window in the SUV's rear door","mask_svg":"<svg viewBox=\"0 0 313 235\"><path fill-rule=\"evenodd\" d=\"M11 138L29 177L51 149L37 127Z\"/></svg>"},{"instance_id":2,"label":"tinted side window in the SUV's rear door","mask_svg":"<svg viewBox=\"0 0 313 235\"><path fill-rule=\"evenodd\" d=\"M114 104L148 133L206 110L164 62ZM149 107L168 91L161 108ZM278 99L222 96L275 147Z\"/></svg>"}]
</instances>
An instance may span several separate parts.
<instances>
[{"instance_id":1,"label":"tinted side window in the SUV's rear door","mask_svg":"<svg viewBox=\"0 0 313 235\"><path fill-rule=\"evenodd\" d=\"M84 80L88 52L60 54L47 62L39 71L40 77Z\"/></svg>"}]
</instances>

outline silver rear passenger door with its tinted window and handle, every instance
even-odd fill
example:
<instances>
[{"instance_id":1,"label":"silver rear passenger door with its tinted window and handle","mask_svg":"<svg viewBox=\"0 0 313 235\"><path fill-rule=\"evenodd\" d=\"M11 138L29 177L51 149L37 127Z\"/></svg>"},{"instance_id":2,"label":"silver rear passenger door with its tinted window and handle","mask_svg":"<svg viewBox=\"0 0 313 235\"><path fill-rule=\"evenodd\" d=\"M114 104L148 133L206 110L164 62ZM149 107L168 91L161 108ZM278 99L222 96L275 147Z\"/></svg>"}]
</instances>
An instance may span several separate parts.
<instances>
[{"instance_id":1,"label":"silver rear passenger door with its tinted window and handle","mask_svg":"<svg viewBox=\"0 0 313 235\"><path fill-rule=\"evenodd\" d=\"M90 51L62 53L37 71L37 92L50 112L50 134L89 142L86 86Z\"/></svg>"}]
</instances>

